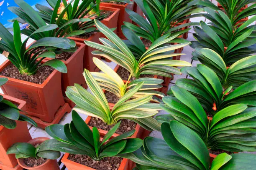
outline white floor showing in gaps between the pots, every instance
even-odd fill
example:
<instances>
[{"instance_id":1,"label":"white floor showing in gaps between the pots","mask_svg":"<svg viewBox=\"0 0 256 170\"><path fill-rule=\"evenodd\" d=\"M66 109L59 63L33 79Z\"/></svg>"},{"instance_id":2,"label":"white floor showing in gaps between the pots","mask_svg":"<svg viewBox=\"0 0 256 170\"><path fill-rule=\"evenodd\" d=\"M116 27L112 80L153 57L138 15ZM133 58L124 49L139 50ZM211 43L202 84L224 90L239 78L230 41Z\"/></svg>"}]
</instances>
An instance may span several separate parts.
<instances>
[{"instance_id":1,"label":"white floor showing in gaps between the pots","mask_svg":"<svg viewBox=\"0 0 256 170\"><path fill-rule=\"evenodd\" d=\"M217 5L217 1L216 0L212 0L212 2L214 2L216 5ZM197 17L197 18L192 18L190 19L191 22L200 22L200 21L204 21L206 23L207 20L204 18L204 17ZM192 40L195 40L195 38L193 37L193 34L194 33L194 30L193 28L191 30L189 30L189 34L188 34L188 38L187 40L189 41L192 41ZM25 40L26 39L26 36L23 35L22 36L22 40ZM33 40L31 39L30 41L28 41L28 44L30 44L31 42L33 42ZM192 66L196 66L197 64L200 64L199 61L196 61L196 60L192 60L192 52L193 52L193 48L191 48L190 46L186 46L184 47L182 53L185 53L186 55L182 55L181 56L181 59L180 60L184 60L184 61L187 61L187 62L190 62L192 63ZM2 64L4 61L6 60L6 58L0 54L0 64ZM116 64L114 62L105 62L106 64L108 64L111 68L114 69L114 67L116 66ZM174 75L174 80L171 81L170 85L169 85L169 88L171 86L173 86L176 82L177 79L179 78L189 78L187 75ZM3 91L0 89L0 93L3 93ZM164 111L160 111L159 114L166 114L166 112ZM87 118L87 115L84 115L84 114L79 114L84 120ZM72 117L71 117L71 114L69 113L66 113L61 121L59 122L59 124L62 124L62 125L65 125L66 123L70 123L72 120ZM28 123L28 129L29 129L29 132L32 136L32 138L37 138L37 137L48 137L48 138L51 138L45 130L41 129L41 128L36 128L34 126L32 126L31 124ZM161 135L161 132L157 132L157 131L153 131L150 136L152 137L155 137L155 138L162 138L162 135ZM255 152L256 153L256 152ZM67 169L67 168L66 168Z\"/></svg>"}]
</instances>

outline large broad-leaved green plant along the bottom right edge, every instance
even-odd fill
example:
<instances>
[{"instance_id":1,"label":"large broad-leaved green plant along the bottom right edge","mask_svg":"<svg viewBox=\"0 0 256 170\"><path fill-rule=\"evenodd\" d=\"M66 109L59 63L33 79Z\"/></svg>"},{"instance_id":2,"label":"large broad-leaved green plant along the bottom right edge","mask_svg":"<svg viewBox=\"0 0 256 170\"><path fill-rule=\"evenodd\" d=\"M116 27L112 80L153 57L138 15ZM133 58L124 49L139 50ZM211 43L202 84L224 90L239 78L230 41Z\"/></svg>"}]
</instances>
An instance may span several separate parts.
<instances>
[{"instance_id":1,"label":"large broad-leaved green plant along the bottom right edge","mask_svg":"<svg viewBox=\"0 0 256 170\"><path fill-rule=\"evenodd\" d=\"M163 123L161 133L164 140L147 137L140 150L122 155L136 163L133 170L253 170L256 165L256 156L249 153L222 153L210 164L200 136L176 120Z\"/></svg>"}]
</instances>

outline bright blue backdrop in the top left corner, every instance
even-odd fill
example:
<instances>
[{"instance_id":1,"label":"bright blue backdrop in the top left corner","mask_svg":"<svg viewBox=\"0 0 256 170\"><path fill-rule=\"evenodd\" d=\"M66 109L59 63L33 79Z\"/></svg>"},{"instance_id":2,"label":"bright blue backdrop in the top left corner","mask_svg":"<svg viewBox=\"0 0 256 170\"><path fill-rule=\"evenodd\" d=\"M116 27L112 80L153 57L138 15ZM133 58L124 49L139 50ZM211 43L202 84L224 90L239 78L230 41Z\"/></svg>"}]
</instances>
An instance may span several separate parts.
<instances>
[{"instance_id":1,"label":"bright blue backdrop in the top left corner","mask_svg":"<svg viewBox=\"0 0 256 170\"><path fill-rule=\"evenodd\" d=\"M29 5L36 9L35 5L47 5L46 0L25 0ZM8 10L8 7L18 6L15 4L14 0L0 0L0 22L5 27L12 27L13 23L9 23L8 20L16 18L17 16Z\"/></svg>"}]
</instances>

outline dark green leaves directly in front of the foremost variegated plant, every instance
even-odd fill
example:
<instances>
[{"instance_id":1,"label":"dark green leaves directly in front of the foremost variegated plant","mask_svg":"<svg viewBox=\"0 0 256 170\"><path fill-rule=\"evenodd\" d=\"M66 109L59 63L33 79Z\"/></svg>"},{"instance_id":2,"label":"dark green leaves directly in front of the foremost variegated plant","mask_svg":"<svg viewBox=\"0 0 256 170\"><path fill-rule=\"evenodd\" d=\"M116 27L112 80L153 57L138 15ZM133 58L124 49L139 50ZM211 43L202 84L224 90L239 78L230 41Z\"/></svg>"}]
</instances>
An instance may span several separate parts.
<instances>
[{"instance_id":1,"label":"dark green leaves directly in front of the foremost variegated plant","mask_svg":"<svg viewBox=\"0 0 256 170\"><path fill-rule=\"evenodd\" d=\"M73 110L70 124L46 127L46 132L54 139L44 143L39 152L41 149L50 148L65 153L87 155L93 160L99 161L105 157L119 156L138 150L143 141L138 138L128 138L134 134L135 130L111 138L119 125L120 122L101 139L97 128L93 127L90 130L84 120Z\"/></svg>"}]
</instances>

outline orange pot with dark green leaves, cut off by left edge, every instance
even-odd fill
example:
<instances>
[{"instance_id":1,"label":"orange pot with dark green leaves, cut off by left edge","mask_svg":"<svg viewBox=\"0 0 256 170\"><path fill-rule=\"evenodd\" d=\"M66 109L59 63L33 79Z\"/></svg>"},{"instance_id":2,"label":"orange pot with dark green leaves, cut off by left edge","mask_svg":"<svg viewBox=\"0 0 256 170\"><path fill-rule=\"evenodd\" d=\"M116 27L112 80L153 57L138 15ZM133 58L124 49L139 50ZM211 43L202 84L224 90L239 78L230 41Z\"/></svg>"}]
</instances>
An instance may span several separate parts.
<instances>
[{"instance_id":1,"label":"orange pot with dark green leaves, cut off by left edge","mask_svg":"<svg viewBox=\"0 0 256 170\"><path fill-rule=\"evenodd\" d=\"M7 78L0 78L0 86L7 81ZM25 108L25 101L0 94L0 168L3 170L20 169L14 155L7 155L6 151L14 143L31 140L27 122L37 126L31 118L20 114Z\"/></svg>"}]
</instances>

